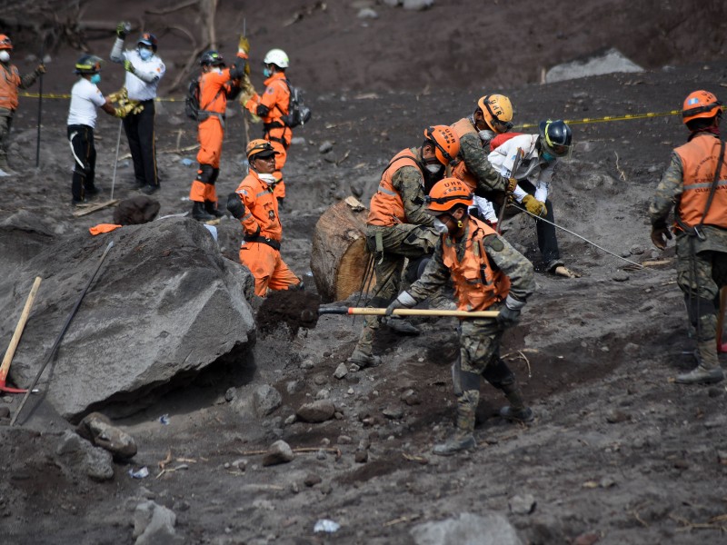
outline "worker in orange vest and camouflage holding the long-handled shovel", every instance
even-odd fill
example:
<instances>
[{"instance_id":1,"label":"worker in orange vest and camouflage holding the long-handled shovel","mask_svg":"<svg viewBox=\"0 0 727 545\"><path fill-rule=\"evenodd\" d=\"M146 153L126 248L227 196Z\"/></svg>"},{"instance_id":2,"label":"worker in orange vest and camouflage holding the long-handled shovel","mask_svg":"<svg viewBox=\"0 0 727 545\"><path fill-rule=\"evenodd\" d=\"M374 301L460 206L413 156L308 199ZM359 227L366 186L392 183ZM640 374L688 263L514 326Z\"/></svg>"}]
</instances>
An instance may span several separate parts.
<instances>
[{"instance_id":1,"label":"worker in orange vest and camouflage holding the long-handled shovel","mask_svg":"<svg viewBox=\"0 0 727 545\"><path fill-rule=\"evenodd\" d=\"M463 319L459 328L460 356L453 365L457 421L453 436L434 446L434 454L449 456L475 446L474 413L480 401L481 377L503 391L510 405L500 416L532 421L523 392L507 363L500 358L503 332L520 318L535 287L533 264L486 223L468 215L473 193L456 178L436 183L427 195L427 210L446 227L422 277L386 309L411 308L448 282L454 283L461 311L499 311L497 319Z\"/></svg>"}]
</instances>

